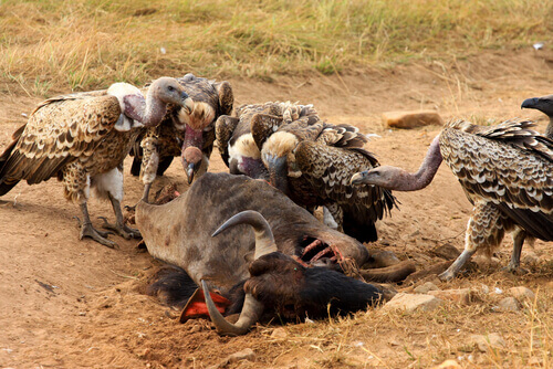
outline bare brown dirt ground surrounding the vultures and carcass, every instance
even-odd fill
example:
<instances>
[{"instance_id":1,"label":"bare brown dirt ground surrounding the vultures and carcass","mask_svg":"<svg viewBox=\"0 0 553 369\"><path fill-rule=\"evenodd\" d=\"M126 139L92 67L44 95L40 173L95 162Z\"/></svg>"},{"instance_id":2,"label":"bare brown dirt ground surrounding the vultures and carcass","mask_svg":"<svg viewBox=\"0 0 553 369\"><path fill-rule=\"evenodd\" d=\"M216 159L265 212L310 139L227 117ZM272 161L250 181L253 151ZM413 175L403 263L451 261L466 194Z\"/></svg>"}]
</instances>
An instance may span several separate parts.
<instances>
[{"instance_id":1,"label":"bare brown dirt ground surrounding the vultures and carcass","mask_svg":"<svg viewBox=\"0 0 553 369\"><path fill-rule=\"evenodd\" d=\"M389 70L353 71L343 76L276 78L272 83L230 80L236 105L265 101L313 103L330 123L348 123L377 134L368 144L382 164L416 170L440 127L384 128L388 110L437 109L445 119L476 123L530 117L545 129L539 112L521 110L528 97L553 93L553 59L533 50L487 53L448 65L439 62ZM550 55L551 56L551 55ZM182 75L188 71L175 71ZM41 98L1 96L0 148L24 123ZM217 150L210 171L226 171ZM135 203L142 183L125 168L125 203ZM154 191L168 182L185 191L175 161ZM216 189L213 189L216 191ZM446 243L462 250L471 205L446 166L425 190L396 193L401 202L377 226L380 240L369 249L392 250L424 267L440 259L429 250ZM91 200L90 211L113 220L108 203ZM79 241L75 215L56 180L18 184L0 200L0 368L344 368L432 367L455 359L462 367L553 366L553 244L525 246L523 266L512 276L505 266L512 243L505 238L490 263L441 289L470 287L479 298L468 306L448 303L438 313L385 313L380 308L353 317L300 325L259 325L238 338L219 337L207 320L178 323L178 312L142 293L147 276L160 265L117 236L119 249ZM100 225L100 220L96 224ZM518 313L494 313L509 287L538 293ZM397 289L411 286L396 286ZM273 334L279 329L279 334ZM282 331L283 330L283 331ZM498 333L501 350L463 349L472 334ZM250 360L227 362L250 348Z\"/></svg>"}]
</instances>

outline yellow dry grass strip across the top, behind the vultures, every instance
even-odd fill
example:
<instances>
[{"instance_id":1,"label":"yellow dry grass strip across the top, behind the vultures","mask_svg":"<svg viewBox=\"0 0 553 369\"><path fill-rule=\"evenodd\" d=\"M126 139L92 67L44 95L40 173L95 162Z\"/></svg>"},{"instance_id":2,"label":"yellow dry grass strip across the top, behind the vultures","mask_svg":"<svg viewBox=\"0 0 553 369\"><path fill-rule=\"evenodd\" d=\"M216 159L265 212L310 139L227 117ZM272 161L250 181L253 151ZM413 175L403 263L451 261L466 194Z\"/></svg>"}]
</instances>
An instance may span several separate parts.
<instances>
[{"instance_id":1,"label":"yellow dry grass strip across the top, behind the vultures","mask_svg":"<svg viewBox=\"0 0 553 369\"><path fill-rule=\"evenodd\" d=\"M75 0L0 3L0 92L140 84L160 74L331 74L550 38L551 1Z\"/></svg>"}]
</instances>

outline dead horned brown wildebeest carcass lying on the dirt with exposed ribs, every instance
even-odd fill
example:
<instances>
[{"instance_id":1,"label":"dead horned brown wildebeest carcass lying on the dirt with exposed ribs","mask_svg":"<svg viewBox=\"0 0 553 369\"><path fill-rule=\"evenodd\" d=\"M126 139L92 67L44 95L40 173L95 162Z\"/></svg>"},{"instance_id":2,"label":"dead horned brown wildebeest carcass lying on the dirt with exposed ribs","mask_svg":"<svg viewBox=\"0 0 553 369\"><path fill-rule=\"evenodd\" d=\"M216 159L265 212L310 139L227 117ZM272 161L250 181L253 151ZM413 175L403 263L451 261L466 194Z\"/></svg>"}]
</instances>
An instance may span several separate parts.
<instances>
[{"instance_id":1,"label":"dead horned brown wildebeest carcass lying on the dirt with exposed ribs","mask_svg":"<svg viewBox=\"0 0 553 369\"><path fill-rule=\"evenodd\" d=\"M229 221L236 226L211 236L220 224L246 210L260 215L242 213ZM365 264L371 259L366 247L323 225L264 181L206 173L169 203L139 202L136 224L154 257L182 268L204 289L229 297L232 306L227 313L240 310L243 302L238 326L212 316L221 334L244 334L260 310L316 317L327 314L328 304L352 312L380 301L379 287L335 271L343 264ZM371 275L384 282L411 272L411 264L401 263Z\"/></svg>"}]
</instances>

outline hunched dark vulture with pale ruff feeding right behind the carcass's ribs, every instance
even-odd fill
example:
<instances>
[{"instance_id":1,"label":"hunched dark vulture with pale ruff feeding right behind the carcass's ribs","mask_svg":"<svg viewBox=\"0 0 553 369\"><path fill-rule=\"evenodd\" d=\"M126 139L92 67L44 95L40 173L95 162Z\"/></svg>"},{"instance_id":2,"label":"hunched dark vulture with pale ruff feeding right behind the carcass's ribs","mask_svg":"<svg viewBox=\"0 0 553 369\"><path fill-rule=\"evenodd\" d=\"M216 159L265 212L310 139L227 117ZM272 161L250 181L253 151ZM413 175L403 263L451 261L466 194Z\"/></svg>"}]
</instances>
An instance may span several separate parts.
<instances>
[{"instance_id":1,"label":"hunched dark vulture with pale ruff feeding right behind the carcass's ribs","mask_svg":"<svg viewBox=\"0 0 553 369\"><path fill-rule=\"evenodd\" d=\"M324 207L325 223L330 212L337 229L358 241L377 240L375 222L397 204L389 190L349 184L353 173L379 166L363 149L367 138L358 128L306 116L276 129L252 122L251 130L271 184L310 211Z\"/></svg>"}]
</instances>

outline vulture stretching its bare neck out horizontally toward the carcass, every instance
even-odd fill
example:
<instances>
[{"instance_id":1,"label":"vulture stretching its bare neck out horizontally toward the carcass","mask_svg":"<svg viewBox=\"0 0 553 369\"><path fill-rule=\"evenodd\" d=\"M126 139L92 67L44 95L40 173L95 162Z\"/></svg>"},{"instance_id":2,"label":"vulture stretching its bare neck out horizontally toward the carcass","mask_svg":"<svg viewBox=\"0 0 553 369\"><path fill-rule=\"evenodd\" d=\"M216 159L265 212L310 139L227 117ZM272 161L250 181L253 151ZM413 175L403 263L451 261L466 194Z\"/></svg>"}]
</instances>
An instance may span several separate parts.
<instances>
[{"instance_id":1,"label":"vulture stretching its bare neck out horizontally toward the carcass","mask_svg":"<svg viewBox=\"0 0 553 369\"><path fill-rule=\"evenodd\" d=\"M520 272L525 239L553 241L553 140L523 119L492 127L451 120L430 144L416 173L382 166L354 175L352 183L416 191L431 182L445 160L473 210L463 252L439 277L452 280L477 250L491 254L505 231L513 239L508 270Z\"/></svg>"}]
</instances>

